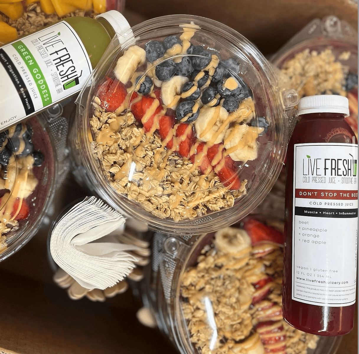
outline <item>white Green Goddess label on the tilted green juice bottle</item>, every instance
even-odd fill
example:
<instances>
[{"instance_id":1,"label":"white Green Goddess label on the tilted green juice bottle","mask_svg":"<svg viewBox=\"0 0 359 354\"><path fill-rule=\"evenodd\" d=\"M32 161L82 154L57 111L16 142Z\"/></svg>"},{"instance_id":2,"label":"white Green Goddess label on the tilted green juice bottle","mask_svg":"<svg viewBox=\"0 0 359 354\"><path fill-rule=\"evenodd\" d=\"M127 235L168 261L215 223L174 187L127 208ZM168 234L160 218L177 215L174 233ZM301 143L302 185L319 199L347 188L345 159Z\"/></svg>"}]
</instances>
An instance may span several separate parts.
<instances>
[{"instance_id":1,"label":"white Green Goddess label on the tilted green juice bottle","mask_svg":"<svg viewBox=\"0 0 359 354\"><path fill-rule=\"evenodd\" d=\"M79 92L92 72L78 34L59 22L0 48L0 131Z\"/></svg>"}]
</instances>

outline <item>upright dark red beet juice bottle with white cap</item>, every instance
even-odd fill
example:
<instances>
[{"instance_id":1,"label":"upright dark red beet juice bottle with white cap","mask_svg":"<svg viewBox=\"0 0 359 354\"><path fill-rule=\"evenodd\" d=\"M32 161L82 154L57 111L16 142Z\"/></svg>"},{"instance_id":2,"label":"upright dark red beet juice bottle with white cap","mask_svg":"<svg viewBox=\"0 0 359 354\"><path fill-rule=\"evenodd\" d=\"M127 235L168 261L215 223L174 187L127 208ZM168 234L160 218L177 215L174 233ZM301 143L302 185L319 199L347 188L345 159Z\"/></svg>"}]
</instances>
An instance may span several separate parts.
<instances>
[{"instance_id":1,"label":"upright dark red beet juice bottle with white cap","mask_svg":"<svg viewBox=\"0 0 359 354\"><path fill-rule=\"evenodd\" d=\"M346 97L304 97L298 115L286 162L283 317L337 336L354 321L358 142Z\"/></svg>"}]
</instances>

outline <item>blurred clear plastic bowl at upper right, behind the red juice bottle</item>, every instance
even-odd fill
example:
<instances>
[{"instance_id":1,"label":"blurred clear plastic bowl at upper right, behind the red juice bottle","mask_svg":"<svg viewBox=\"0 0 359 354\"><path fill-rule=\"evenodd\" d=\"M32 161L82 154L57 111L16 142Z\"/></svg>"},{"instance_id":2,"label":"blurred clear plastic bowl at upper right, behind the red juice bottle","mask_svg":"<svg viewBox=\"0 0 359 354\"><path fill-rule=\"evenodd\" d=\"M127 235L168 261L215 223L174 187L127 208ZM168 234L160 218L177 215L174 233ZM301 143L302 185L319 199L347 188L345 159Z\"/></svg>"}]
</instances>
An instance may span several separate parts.
<instances>
[{"instance_id":1,"label":"blurred clear plastic bowl at upper right, behind the red juice bottle","mask_svg":"<svg viewBox=\"0 0 359 354\"><path fill-rule=\"evenodd\" d=\"M299 98L348 97L350 115L345 119L358 136L358 32L347 22L333 15L313 19L270 61L289 79L289 87L297 90Z\"/></svg>"}]
</instances>

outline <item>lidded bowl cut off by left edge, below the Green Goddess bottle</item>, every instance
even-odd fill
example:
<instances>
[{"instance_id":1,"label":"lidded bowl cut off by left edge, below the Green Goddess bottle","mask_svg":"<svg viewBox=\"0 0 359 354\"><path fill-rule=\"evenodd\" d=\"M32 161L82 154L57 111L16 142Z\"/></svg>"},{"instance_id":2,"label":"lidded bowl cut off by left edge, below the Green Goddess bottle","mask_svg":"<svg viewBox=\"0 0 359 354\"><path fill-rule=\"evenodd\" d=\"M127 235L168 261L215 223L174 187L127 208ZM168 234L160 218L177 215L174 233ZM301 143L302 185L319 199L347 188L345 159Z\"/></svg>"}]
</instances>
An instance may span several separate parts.
<instances>
[{"instance_id":1,"label":"lidded bowl cut off by left edge, below the Green Goddess bottle","mask_svg":"<svg viewBox=\"0 0 359 354\"><path fill-rule=\"evenodd\" d=\"M33 116L0 133L0 261L31 239L51 203L56 158L49 126Z\"/></svg>"}]
</instances>

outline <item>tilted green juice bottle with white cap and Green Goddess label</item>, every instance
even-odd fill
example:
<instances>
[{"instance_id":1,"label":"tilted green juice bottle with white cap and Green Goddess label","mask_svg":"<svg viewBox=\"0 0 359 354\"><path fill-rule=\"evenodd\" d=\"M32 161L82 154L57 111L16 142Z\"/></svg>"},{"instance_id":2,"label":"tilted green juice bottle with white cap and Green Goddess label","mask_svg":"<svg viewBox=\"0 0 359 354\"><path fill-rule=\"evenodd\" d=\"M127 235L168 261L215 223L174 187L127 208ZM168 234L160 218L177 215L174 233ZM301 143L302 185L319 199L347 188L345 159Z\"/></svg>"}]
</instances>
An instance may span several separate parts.
<instances>
[{"instance_id":1,"label":"tilted green juice bottle with white cap and Green Goddess label","mask_svg":"<svg viewBox=\"0 0 359 354\"><path fill-rule=\"evenodd\" d=\"M78 93L115 34L132 32L116 10L69 17L0 47L0 131Z\"/></svg>"}]
</instances>

